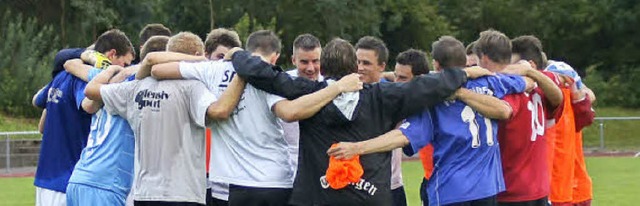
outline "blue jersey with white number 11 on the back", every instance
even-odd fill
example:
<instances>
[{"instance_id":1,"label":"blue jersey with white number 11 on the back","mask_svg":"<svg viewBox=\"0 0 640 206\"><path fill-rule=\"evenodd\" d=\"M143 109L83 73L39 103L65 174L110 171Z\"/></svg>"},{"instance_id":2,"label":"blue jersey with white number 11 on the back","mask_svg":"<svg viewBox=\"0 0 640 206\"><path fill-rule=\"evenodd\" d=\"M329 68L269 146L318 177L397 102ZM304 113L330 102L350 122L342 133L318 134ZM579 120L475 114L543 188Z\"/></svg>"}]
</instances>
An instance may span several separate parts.
<instances>
[{"instance_id":1,"label":"blue jersey with white number 11 on the back","mask_svg":"<svg viewBox=\"0 0 640 206\"><path fill-rule=\"evenodd\" d=\"M523 92L525 82L522 77L497 75L470 80L465 87L502 98ZM417 152L429 143L434 148L429 205L477 200L505 190L497 126L496 120L482 116L460 100L445 101L406 120L400 130L411 148L405 148L405 152Z\"/></svg>"}]
</instances>

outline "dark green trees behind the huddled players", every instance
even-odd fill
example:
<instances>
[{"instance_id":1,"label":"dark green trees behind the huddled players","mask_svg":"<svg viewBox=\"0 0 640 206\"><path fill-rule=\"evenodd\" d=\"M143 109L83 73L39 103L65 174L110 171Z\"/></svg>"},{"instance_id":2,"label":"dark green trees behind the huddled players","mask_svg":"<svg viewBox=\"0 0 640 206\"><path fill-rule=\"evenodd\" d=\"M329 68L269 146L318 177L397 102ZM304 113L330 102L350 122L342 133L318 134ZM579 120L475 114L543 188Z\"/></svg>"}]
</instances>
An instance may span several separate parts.
<instances>
[{"instance_id":1,"label":"dark green trees behind the huddled players","mask_svg":"<svg viewBox=\"0 0 640 206\"><path fill-rule=\"evenodd\" d=\"M155 22L203 38L212 27L234 28L243 39L252 31L271 29L283 40L282 64L290 62L291 43L302 33L323 42L340 37L355 43L365 35L378 36L388 44L391 57L409 48L429 51L441 35L466 44L488 28L509 37L532 34L543 41L550 59L566 61L588 75L585 81L599 94L598 104L640 106L635 83L640 81L640 2L635 0L2 1L7 8L0 9L5 41L1 51L15 55L0 57L0 95L21 96L0 100L3 112L10 114L36 115L27 97L50 77L20 76L29 81L18 81L5 74L17 75L14 70L19 68L50 71L58 49L87 46L110 28L123 30L138 45L139 30Z\"/></svg>"}]
</instances>

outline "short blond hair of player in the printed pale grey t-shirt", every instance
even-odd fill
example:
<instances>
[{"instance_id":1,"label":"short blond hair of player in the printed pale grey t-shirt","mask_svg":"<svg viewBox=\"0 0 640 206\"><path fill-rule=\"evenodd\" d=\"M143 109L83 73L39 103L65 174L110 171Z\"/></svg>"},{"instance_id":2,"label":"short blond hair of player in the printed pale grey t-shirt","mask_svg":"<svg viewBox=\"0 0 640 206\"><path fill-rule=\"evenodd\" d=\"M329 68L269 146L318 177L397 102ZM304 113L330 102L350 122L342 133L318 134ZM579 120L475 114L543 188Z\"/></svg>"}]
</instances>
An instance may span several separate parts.
<instances>
[{"instance_id":1,"label":"short blond hair of player in the printed pale grey t-shirt","mask_svg":"<svg viewBox=\"0 0 640 206\"><path fill-rule=\"evenodd\" d=\"M198 35L191 32L180 32L169 38L167 51L189 55L203 55L204 43L202 43L202 39L200 39Z\"/></svg>"}]
</instances>

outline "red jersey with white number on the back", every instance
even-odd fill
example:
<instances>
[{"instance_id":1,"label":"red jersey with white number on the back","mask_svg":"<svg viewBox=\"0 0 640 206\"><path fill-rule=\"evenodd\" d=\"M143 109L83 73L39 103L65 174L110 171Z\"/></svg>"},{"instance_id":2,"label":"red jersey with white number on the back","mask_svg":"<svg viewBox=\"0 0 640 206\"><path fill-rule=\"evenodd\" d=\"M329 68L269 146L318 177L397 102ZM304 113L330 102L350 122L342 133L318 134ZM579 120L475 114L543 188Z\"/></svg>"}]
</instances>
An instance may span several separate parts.
<instances>
[{"instance_id":1,"label":"red jersey with white number on the back","mask_svg":"<svg viewBox=\"0 0 640 206\"><path fill-rule=\"evenodd\" d=\"M559 85L558 78L543 72ZM498 126L498 141L507 190L498 194L499 202L522 202L549 195L548 146L544 135L546 121L553 111L542 89L507 95L503 99L513 109L511 119ZM561 109L561 108L559 108Z\"/></svg>"}]
</instances>

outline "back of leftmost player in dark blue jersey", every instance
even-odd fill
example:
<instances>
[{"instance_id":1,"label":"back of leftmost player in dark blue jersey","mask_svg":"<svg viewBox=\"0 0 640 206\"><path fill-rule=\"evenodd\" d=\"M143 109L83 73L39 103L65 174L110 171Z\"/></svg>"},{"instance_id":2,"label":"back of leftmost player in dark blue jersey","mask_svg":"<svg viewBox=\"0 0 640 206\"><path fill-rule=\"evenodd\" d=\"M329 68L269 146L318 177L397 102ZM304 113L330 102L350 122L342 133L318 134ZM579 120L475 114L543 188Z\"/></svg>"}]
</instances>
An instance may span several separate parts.
<instances>
[{"instance_id":1,"label":"back of leftmost player in dark blue jersey","mask_svg":"<svg viewBox=\"0 0 640 206\"><path fill-rule=\"evenodd\" d=\"M80 108L79 93L86 82L62 71L57 73L36 104L46 107L42 145L35 185L65 192L73 167L86 145L91 116Z\"/></svg>"}]
</instances>

